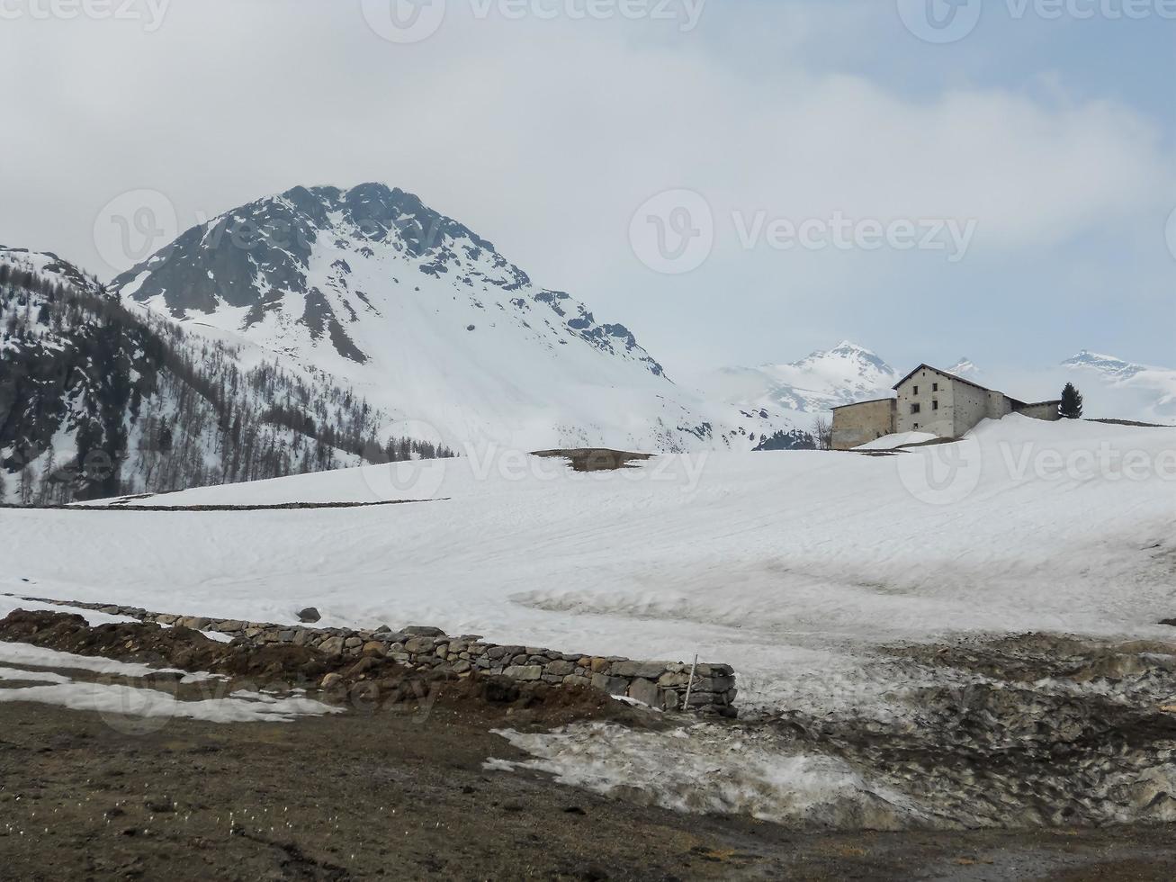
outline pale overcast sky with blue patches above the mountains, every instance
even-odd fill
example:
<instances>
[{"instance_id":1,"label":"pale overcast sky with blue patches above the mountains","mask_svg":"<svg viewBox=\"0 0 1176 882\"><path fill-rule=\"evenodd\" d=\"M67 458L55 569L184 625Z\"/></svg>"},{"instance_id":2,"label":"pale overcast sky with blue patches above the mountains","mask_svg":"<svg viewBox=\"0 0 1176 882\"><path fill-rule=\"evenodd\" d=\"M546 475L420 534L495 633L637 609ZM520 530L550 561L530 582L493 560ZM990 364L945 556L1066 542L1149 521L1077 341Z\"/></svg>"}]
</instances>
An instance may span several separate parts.
<instances>
[{"instance_id":1,"label":"pale overcast sky with blue patches above the mountains","mask_svg":"<svg viewBox=\"0 0 1176 882\"><path fill-rule=\"evenodd\" d=\"M955 1L0 0L0 242L379 180L671 375L1176 363L1174 4Z\"/></svg>"}]
</instances>

